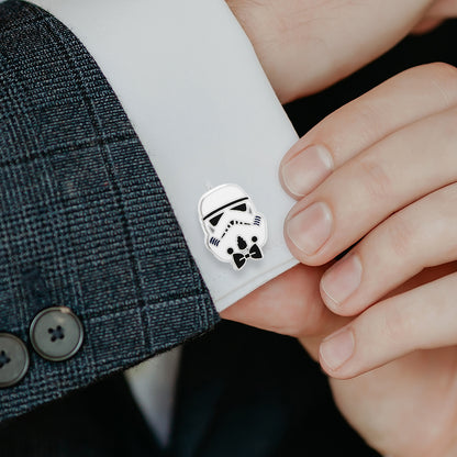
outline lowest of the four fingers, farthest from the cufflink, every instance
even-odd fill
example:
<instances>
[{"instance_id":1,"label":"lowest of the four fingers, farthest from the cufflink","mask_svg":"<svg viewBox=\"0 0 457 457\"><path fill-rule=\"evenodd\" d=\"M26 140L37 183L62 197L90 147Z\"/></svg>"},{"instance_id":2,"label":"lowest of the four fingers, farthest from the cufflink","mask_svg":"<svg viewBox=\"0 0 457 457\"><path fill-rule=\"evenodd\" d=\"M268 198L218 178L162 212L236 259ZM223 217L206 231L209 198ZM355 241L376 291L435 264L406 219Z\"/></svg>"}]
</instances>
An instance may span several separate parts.
<instances>
[{"instance_id":1,"label":"lowest of the four fingers, farthest from the cufflink","mask_svg":"<svg viewBox=\"0 0 457 457\"><path fill-rule=\"evenodd\" d=\"M452 274L377 303L323 341L323 369L347 379L416 349L455 345L456 293L457 274Z\"/></svg>"}]
</instances>

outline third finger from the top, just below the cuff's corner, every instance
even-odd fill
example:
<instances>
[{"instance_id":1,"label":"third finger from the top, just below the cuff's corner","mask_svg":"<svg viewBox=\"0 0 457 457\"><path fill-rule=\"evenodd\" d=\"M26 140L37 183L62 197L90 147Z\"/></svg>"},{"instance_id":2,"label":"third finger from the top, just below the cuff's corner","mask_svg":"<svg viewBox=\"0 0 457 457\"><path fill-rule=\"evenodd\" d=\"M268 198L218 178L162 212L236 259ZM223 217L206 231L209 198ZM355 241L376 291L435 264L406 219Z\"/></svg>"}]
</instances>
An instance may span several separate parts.
<instances>
[{"instance_id":1,"label":"third finger from the top, just below the cuff's corner","mask_svg":"<svg viewBox=\"0 0 457 457\"><path fill-rule=\"evenodd\" d=\"M321 279L325 304L355 315L424 268L457 259L457 185L394 213Z\"/></svg>"}]
</instances>

